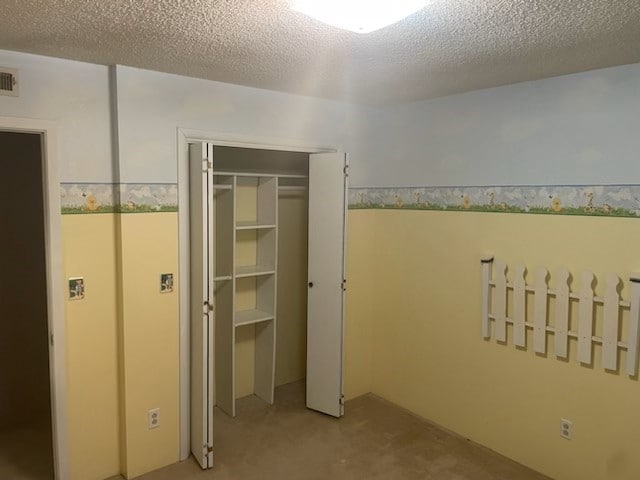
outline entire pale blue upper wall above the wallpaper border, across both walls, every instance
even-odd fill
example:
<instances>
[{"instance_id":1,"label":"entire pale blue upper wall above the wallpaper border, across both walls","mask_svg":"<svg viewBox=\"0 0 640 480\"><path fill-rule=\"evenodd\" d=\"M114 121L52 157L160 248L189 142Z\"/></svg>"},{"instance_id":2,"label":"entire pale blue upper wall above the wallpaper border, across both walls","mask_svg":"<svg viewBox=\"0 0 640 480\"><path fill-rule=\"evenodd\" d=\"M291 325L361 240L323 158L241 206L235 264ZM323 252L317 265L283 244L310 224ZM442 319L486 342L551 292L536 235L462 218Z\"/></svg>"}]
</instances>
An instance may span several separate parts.
<instances>
[{"instance_id":1,"label":"entire pale blue upper wall above the wallpaper border, across both walls","mask_svg":"<svg viewBox=\"0 0 640 480\"><path fill-rule=\"evenodd\" d=\"M0 50L21 96L0 115L59 127L60 179L113 178L105 66ZM176 129L350 153L351 185L640 183L640 64L389 107L117 68L120 180L175 182Z\"/></svg>"}]
</instances>

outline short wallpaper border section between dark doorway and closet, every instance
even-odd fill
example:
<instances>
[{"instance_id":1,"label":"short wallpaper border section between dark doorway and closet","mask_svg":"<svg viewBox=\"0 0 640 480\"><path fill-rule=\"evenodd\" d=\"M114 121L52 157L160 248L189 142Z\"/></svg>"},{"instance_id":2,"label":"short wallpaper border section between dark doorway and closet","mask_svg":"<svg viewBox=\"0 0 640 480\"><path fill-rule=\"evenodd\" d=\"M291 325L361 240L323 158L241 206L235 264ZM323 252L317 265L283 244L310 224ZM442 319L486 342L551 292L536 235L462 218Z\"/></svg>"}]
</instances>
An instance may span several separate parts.
<instances>
[{"instance_id":1,"label":"short wallpaper border section between dark doorway and closet","mask_svg":"<svg viewBox=\"0 0 640 480\"><path fill-rule=\"evenodd\" d=\"M62 214L178 211L175 183L62 183Z\"/></svg>"}]
</instances>

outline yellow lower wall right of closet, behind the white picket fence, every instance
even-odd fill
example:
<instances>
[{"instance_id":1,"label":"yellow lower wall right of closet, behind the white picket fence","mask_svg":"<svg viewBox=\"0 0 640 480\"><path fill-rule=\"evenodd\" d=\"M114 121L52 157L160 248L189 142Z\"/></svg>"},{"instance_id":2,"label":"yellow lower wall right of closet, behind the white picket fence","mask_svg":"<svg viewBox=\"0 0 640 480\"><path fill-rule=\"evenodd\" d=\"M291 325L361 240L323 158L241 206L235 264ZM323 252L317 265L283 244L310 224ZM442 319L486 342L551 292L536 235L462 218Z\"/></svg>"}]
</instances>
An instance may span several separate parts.
<instances>
[{"instance_id":1,"label":"yellow lower wall right of closet, behind the white picket fence","mask_svg":"<svg viewBox=\"0 0 640 480\"><path fill-rule=\"evenodd\" d=\"M350 285L375 281L368 302L351 292L347 331L353 318L373 321L374 393L558 480L637 480L637 379L580 366L575 342L563 362L552 343L542 357L483 340L479 262L490 252L530 270L627 279L640 270L637 220L407 210L349 220ZM348 357L354 343L348 336ZM560 418L574 422L571 441Z\"/></svg>"}]
</instances>

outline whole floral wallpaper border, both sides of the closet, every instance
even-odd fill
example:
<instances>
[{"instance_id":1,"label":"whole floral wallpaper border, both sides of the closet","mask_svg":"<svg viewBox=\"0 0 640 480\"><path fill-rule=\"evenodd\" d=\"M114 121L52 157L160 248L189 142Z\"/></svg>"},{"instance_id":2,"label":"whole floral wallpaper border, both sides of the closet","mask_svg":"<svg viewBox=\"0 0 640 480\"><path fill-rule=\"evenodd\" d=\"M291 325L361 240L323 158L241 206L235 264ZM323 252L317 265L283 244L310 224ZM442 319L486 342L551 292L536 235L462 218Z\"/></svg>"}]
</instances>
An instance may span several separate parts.
<instances>
[{"instance_id":1,"label":"whole floral wallpaper border, both sides of the closet","mask_svg":"<svg viewBox=\"0 0 640 480\"><path fill-rule=\"evenodd\" d=\"M176 183L61 183L62 214L178 211ZM351 187L350 210L640 218L640 184Z\"/></svg>"}]
</instances>

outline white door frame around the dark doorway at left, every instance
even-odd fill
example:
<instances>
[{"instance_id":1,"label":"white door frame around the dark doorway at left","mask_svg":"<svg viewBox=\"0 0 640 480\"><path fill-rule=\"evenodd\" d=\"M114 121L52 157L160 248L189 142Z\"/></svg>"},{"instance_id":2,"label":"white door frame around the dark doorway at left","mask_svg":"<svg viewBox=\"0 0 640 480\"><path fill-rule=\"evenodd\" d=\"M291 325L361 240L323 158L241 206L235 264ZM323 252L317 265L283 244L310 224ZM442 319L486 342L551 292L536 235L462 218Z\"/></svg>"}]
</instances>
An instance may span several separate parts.
<instances>
[{"instance_id":1,"label":"white door frame around the dark doorway at left","mask_svg":"<svg viewBox=\"0 0 640 480\"><path fill-rule=\"evenodd\" d=\"M48 120L0 116L0 131L35 133L39 134L42 139L42 191L47 272L53 464L55 478L57 480L66 480L69 478L69 447L65 357L66 335L63 302L64 269L62 265L57 127L55 122Z\"/></svg>"}]
</instances>

